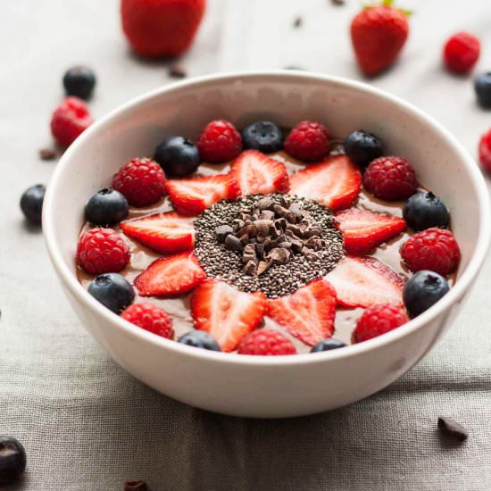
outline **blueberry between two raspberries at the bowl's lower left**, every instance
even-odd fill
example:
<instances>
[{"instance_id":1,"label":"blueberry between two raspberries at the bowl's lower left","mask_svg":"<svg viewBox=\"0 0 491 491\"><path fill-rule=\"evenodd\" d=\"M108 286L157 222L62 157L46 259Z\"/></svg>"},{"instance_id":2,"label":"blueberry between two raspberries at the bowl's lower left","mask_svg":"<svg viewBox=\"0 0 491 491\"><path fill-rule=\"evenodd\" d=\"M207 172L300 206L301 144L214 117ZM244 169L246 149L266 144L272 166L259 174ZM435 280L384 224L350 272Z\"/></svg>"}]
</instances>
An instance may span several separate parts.
<instances>
[{"instance_id":1,"label":"blueberry between two raspberries at the bowl's lower left","mask_svg":"<svg viewBox=\"0 0 491 491\"><path fill-rule=\"evenodd\" d=\"M116 313L121 313L135 299L135 290L118 273L100 274L88 286L88 293Z\"/></svg>"}]
</instances>

